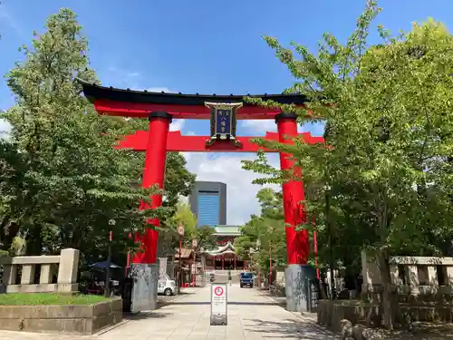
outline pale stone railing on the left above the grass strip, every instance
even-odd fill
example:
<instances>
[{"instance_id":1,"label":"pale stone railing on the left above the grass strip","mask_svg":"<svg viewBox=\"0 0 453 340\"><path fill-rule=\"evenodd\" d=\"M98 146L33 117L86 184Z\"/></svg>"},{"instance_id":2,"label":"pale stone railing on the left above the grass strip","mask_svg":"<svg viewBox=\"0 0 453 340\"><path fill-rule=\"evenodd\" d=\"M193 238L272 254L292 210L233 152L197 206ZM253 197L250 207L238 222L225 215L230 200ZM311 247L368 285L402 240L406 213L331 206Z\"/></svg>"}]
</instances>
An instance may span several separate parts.
<instances>
[{"instance_id":1,"label":"pale stone railing on the left above the grass strip","mask_svg":"<svg viewBox=\"0 0 453 340\"><path fill-rule=\"evenodd\" d=\"M6 293L72 293L78 290L77 249L63 249L60 255L54 256L0 257L0 265L4 267ZM36 272L38 268L39 273ZM53 283L54 275L57 275L56 283Z\"/></svg>"}]
</instances>

